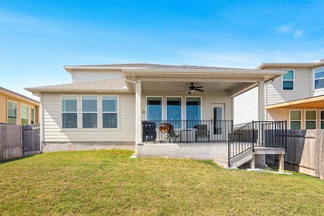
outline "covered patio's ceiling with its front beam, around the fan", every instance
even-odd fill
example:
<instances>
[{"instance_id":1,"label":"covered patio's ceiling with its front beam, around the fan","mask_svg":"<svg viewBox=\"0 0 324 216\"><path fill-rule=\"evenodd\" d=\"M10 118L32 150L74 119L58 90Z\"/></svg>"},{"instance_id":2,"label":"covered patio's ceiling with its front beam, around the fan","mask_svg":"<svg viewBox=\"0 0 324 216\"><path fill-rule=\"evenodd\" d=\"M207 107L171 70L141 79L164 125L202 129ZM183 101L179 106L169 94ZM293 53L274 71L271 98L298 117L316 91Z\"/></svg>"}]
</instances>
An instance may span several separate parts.
<instances>
[{"instance_id":1,"label":"covered patio's ceiling with its front beam, around the fan","mask_svg":"<svg viewBox=\"0 0 324 216\"><path fill-rule=\"evenodd\" d=\"M195 87L203 86L208 92L228 91L235 97L258 86L258 81L267 82L284 71L264 70L183 70L183 69L124 69L129 80L141 80L142 91L175 91L188 89L193 82ZM133 83L128 83L135 90ZM185 93L185 92L184 92ZM199 92L199 94L204 94Z\"/></svg>"}]
</instances>

